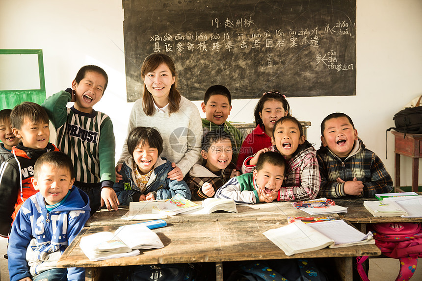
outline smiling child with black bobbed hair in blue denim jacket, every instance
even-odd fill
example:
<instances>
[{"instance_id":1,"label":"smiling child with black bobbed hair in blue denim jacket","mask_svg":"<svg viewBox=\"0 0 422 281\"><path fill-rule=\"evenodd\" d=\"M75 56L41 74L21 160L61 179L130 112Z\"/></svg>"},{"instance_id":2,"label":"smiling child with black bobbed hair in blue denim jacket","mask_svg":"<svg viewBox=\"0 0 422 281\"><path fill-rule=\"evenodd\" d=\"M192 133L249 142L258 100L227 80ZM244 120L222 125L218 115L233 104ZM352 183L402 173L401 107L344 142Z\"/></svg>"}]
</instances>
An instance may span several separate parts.
<instances>
[{"instance_id":1,"label":"smiling child with black bobbed hair in blue denim jacket","mask_svg":"<svg viewBox=\"0 0 422 281\"><path fill-rule=\"evenodd\" d=\"M127 142L131 155L125 158L118 172L123 179L113 186L120 204L170 199L176 193L186 199L191 198L185 181L167 178L167 173L173 168L170 161L159 157L163 148L157 129L136 127L129 133Z\"/></svg>"}]
</instances>

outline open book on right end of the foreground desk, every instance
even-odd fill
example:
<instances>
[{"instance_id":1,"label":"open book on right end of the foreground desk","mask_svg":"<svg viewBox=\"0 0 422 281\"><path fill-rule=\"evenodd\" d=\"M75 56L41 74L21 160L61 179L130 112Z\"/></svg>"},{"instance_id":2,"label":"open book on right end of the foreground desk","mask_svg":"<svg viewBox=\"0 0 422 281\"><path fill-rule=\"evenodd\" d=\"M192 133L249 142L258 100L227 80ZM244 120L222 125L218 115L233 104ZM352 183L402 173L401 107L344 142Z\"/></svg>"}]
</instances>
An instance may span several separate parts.
<instances>
[{"instance_id":1,"label":"open book on right end of the foreground desk","mask_svg":"<svg viewBox=\"0 0 422 281\"><path fill-rule=\"evenodd\" d=\"M263 234L286 255L316 251L327 246L338 248L375 243L371 232L364 234L343 220L312 224L297 221Z\"/></svg>"}]
</instances>

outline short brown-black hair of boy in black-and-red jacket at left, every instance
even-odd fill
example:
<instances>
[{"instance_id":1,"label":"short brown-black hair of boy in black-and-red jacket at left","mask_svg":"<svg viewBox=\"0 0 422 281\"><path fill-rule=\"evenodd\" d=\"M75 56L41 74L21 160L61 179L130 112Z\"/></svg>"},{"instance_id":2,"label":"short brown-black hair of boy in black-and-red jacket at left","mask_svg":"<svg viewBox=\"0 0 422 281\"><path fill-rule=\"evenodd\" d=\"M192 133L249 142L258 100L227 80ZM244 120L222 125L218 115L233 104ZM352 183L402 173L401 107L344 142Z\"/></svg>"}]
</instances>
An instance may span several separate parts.
<instances>
[{"instance_id":1,"label":"short brown-black hair of boy in black-and-red jacket at left","mask_svg":"<svg viewBox=\"0 0 422 281\"><path fill-rule=\"evenodd\" d=\"M10 113L10 124L13 128L21 129L25 118L31 123L42 121L49 124L47 112L35 102L22 102L16 105Z\"/></svg>"}]
</instances>

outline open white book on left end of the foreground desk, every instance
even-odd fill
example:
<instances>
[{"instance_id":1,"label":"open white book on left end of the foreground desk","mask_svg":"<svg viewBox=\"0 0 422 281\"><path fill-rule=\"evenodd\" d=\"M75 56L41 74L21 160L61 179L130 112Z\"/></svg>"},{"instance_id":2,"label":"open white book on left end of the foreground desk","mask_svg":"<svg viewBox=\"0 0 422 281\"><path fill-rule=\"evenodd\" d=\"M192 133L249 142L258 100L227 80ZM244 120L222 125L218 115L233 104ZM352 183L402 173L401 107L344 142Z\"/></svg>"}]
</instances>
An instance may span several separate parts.
<instances>
[{"instance_id":1,"label":"open white book on left end of the foreground desk","mask_svg":"<svg viewBox=\"0 0 422 281\"><path fill-rule=\"evenodd\" d=\"M104 260L124 256L139 255L139 250L162 248L158 235L145 224L126 225L114 233L101 231L80 239L82 252L89 260Z\"/></svg>"}]
</instances>

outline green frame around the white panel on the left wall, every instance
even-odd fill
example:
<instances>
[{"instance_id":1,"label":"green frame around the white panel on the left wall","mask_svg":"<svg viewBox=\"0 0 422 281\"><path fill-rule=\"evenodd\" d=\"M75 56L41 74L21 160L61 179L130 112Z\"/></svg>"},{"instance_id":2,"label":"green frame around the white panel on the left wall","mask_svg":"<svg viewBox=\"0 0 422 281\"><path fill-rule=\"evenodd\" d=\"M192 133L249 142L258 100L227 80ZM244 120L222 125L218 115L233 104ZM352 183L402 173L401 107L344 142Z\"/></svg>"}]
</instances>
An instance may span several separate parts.
<instances>
[{"instance_id":1,"label":"green frame around the white panel on the left wall","mask_svg":"<svg viewBox=\"0 0 422 281\"><path fill-rule=\"evenodd\" d=\"M46 84L44 78L43 50L22 50L12 49L0 50L0 54L36 54L38 56L38 72L40 79L39 89L25 90L0 90L0 108L6 109L13 107L21 102L35 102L41 104L46 99ZM22 77L25 79L25 77Z\"/></svg>"}]
</instances>

